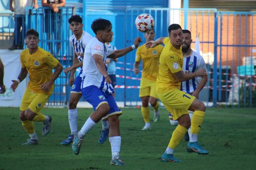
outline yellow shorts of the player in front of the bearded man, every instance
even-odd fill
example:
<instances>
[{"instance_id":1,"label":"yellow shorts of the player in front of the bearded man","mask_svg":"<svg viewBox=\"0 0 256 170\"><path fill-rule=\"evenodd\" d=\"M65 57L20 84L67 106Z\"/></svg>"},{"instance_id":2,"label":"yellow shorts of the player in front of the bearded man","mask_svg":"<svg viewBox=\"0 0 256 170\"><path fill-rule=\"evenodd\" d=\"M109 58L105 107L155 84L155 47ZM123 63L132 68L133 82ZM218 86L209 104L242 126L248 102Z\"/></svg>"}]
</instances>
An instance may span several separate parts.
<instances>
[{"instance_id":1,"label":"yellow shorts of the player in front of the bearded man","mask_svg":"<svg viewBox=\"0 0 256 170\"><path fill-rule=\"evenodd\" d=\"M174 120L177 120L183 114L188 114L188 108L196 99L195 96L191 96L177 88L157 95Z\"/></svg>"}]
</instances>

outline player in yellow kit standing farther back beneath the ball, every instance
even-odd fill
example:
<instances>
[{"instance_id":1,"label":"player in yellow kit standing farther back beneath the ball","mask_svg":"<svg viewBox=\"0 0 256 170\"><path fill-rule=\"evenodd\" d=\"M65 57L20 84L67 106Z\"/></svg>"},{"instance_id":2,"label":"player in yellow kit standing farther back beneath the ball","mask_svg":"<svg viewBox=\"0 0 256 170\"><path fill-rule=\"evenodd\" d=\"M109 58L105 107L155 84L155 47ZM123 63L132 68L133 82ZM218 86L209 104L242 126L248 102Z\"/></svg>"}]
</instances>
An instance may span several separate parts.
<instances>
[{"instance_id":1,"label":"player in yellow kit standing farther back beneath the ball","mask_svg":"<svg viewBox=\"0 0 256 170\"><path fill-rule=\"evenodd\" d=\"M155 31L152 29L150 32L144 34L146 42L154 40ZM159 120L159 102L156 96L156 76L159 69L159 57L163 50L162 45L155 46L154 48L146 48L146 44L139 46L136 52L136 58L134 63L134 73L139 73L139 64L141 60L142 65L142 77L141 85L139 89L139 97L141 97L142 107L141 112L145 122L144 127L141 130L150 130L150 109L148 108L148 101L154 108L154 122Z\"/></svg>"}]
</instances>

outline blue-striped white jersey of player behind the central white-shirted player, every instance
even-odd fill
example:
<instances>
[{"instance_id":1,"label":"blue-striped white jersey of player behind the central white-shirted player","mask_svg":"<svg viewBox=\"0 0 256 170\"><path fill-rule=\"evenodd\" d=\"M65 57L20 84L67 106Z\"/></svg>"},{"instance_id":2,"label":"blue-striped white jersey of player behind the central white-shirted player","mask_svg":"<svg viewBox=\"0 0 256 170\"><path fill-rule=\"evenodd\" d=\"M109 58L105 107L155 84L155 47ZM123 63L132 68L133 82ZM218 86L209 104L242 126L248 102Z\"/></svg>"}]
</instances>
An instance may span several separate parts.
<instances>
[{"instance_id":1,"label":"blue-striped white jersey of player behind the central white-shirted player","mask_svg":"<svg viewBox=\"0 0 256 170\"><path fill-rule=\"evenodd\" d=\"M88 44L88 42L92 40L92 38L93 37L85 31L82 31L82 36L79 40L76 39L75 35L72 35L71 37L69 37L69 44L72 46L74 53L76 53L77 59L79 60L79 62L82 62L82 60L84 59L85 47ZM82 74L82 67L79 68L78 76L81 76L81 74Z\"/></svg>"}]
</instances>

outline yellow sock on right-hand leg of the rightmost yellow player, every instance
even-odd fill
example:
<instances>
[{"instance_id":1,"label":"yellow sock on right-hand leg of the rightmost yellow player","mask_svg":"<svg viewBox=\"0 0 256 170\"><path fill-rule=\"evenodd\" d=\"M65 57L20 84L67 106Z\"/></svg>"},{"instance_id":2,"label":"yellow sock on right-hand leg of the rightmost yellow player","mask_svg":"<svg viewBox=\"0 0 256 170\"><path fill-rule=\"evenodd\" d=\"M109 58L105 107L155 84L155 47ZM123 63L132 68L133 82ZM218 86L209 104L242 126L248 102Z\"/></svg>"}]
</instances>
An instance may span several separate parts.
<instances>
[{"instance_id":1,"label":"yellow sock on right-hand leg of the rightmost yellow player","mask_svg":"<svg viewBox=\"0 0 256 170\"><path fill-rule=\"evenodd\" d=\"M203 124L205 112L195 111L191 120L191 133L198 134Z\"/></svg>"}]
</instances>

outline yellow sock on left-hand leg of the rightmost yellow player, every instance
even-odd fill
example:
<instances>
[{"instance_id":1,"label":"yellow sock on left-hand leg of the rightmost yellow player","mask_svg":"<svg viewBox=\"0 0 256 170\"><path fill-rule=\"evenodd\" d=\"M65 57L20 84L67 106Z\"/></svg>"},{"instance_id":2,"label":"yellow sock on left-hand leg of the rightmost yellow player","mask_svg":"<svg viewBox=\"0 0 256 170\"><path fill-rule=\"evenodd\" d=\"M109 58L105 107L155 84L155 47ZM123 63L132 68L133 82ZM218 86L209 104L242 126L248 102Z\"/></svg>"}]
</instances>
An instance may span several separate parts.
<instances>
[{"instance_id":1,"label":"yellow sock on left-hand leg of the rightmost yellow player","mask_svg":"<svg viewBox=\"0 0 256 170\"><path fill-rule=\"evenodd\" d=\"M185 133L187 133L188 129L184 128L181 125L177 125L177 128L172 133L172 138L169 142L168 147L175 149L177 145L179 145L181 139L184 138Z\"/></svg>"}]
</instances>

